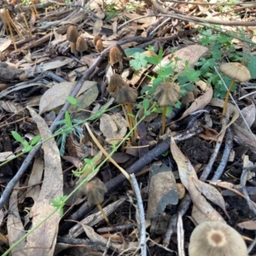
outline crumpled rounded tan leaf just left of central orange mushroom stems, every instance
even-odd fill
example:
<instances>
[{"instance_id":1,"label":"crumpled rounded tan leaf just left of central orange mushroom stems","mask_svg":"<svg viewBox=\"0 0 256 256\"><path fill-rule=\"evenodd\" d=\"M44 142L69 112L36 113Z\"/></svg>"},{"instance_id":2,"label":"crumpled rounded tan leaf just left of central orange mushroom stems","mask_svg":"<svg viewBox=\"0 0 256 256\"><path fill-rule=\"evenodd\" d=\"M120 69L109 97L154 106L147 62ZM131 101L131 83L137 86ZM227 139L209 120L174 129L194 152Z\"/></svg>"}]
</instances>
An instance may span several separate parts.
<instances>
[{"instance_id":1,"label":"crumpled rounded tan leaf just left of central orange mushroom stems","mask_svg":"<svg viewBox=\"0 0 256 256\"><path fill-rule=\"evenodd\" d=\"M119 113L115 113L114 115L118 116L119 121L116 121L111 115L107 113L102 114L100 119L100 130L106 137L108 143L116 144L119 143L119 140L125 137L127 124L125 119L121 117Z\"/></svg>"}]
</instances>

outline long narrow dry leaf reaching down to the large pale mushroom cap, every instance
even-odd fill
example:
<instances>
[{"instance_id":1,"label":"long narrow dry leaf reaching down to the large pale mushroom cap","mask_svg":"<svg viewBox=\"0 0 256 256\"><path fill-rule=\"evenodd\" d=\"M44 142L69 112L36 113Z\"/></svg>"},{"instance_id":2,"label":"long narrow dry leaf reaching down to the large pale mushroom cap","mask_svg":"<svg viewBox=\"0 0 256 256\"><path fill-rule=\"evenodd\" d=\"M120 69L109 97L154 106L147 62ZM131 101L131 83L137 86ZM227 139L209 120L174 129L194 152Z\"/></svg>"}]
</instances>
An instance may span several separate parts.
<instances>
[{"instance_id":1,"label":"long narrow dry leaf reaching down to the large pale mushroom cap","mask_svg":"<svg viewBox=\"0 0 256 256\"><path fill-rule=\"evenodd\" d=\"M184 187L189 190L189 195L195 207L197 207L208 220L224 221L224 218L207 202L201 192L195 187L193 178L198 179L194 167L185 155L177 147L173 137L171 139L171 152L177 163L179 177Z\"/></svg>"}]
</instances>

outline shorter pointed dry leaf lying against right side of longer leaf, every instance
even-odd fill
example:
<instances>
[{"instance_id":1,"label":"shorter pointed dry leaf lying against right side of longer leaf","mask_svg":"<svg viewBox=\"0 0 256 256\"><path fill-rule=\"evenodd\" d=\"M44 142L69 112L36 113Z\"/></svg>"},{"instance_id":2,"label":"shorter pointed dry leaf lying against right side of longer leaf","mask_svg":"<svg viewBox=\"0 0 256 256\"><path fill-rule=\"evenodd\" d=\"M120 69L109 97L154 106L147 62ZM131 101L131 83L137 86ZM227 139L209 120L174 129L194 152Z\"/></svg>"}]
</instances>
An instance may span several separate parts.
<instances>
[{"instance_id":1,"label":"shorter pointed dry leaf lying against right side of longer leaf","mask_svg":"<svg viewBox=\"0 0 256 256\"><path fill-rule=\"evenodd\" d=\"M195 187L204 195L209 201L212 201L218 207L221 207L228 218L230 215L226 211L225 201L223 196L218 192L218 189L215 189L211 184L204 183L199 179L192 178Z\"/></svg>"}]
</instances>

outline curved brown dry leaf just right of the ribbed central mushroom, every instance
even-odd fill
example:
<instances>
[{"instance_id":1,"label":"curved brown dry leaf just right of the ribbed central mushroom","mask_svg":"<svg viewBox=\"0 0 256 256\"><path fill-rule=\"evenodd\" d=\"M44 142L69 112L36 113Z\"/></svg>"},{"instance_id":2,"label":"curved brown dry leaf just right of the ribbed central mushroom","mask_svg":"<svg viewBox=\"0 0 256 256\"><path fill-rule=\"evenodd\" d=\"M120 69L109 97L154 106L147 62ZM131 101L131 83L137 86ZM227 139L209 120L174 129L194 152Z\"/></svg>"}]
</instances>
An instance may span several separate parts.
<instances>
[{"instance_id":1,"label":"curved brown dry leaf just right of the ribbed central mushroom","mask_svg":"<svg viewBox=\"0 0 256 256\"><path fill-rule=\"evenodd\" d=\"M209 89L203 94L202 96L195 99L195 102L193 102L190 107L183 113L182 117L178 120L181 120L188 116L190 113L195 112L198 109L205 108L209 102L212 100L213 90L212 86L209 87Z\"/></svg>"}]
</instances>

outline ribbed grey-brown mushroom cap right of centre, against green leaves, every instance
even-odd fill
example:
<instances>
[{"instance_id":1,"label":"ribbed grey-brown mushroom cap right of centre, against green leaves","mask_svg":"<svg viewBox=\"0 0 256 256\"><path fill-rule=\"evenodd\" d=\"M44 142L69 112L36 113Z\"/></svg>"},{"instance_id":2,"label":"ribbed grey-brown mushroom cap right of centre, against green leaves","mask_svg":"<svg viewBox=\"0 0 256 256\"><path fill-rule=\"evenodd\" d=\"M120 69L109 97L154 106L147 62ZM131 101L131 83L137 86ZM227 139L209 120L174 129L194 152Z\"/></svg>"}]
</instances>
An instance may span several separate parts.
<instances>
[{"instance_id":1,"label":"ribbed grey-brown mushroom cap right of centre, against green leaves","mask_svg":"<svg viewBox=\"0 0 256 256\"><path fill-rule=\"evenodd\" d=\"M180 86L172 83L162 83L155 90L153 99L160 107L173 106L181 96Z\"/></svg>"}]
</instances>

